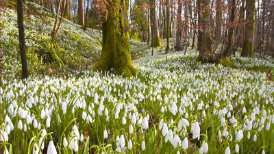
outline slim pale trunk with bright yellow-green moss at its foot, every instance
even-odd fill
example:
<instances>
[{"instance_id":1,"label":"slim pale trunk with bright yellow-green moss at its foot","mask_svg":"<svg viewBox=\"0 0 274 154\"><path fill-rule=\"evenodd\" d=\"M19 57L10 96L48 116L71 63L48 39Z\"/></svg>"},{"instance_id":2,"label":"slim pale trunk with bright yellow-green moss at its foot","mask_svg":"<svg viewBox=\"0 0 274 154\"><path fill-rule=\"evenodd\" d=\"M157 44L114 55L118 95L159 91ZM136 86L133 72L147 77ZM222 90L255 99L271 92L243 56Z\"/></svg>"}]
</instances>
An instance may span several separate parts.
<instances>
[{"instance_id":1,"label":"slim pale trunk with bright yellow-green moss at its foot","mask_svg":"<svg viewBox=\"0 0 274 154\"><path fill-rule=\"evenodd\" d=\"M153 47L162 47L162 42L160 39L160 34L159 34L159 28L158 28L158 19L157 19L157 14L156 14L156 5L155 5L155 0L149 0L149 5L151 6L150 10L150 21L151 21L151 29L153 29Z\"/></svg>"}]
</instances>

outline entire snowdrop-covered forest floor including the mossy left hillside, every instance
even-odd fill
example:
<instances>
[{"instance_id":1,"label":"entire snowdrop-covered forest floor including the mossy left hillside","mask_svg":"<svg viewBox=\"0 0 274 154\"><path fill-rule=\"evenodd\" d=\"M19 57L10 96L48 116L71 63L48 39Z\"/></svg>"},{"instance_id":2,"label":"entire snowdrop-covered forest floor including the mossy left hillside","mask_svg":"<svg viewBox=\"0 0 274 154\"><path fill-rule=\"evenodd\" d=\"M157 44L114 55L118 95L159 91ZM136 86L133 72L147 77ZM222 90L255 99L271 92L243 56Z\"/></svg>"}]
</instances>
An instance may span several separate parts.
<instances>
[{"instance_id":1,"label":"entire snowdrop-covered forest floor including the mossy left hillside","mask_svg":"<svg viewBox=\"0 0 274 154\"><path fill-rule=\"evenodd\" d=\"M46 152L53 140L63 153L274 153L273 62L237 53L201 64L196 49L159 47L152 56L147 43L130 40L136 76L95 73L101 34L65 20L51 44L53 16L36 10L49 17L25 19L25 81L16 13L3 10L0 151Z\"/></svg>"}]
</instances>

